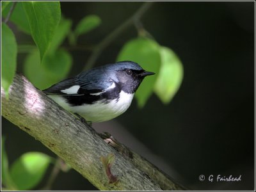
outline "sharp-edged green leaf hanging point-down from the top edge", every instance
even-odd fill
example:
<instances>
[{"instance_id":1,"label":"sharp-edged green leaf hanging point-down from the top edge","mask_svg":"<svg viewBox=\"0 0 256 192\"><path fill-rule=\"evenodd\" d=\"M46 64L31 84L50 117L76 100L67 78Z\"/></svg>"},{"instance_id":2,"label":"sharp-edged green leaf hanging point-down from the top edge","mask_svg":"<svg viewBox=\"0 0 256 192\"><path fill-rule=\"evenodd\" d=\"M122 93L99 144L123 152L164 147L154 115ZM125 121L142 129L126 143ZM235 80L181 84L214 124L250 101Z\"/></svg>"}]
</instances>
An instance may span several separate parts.
<instances>
[{"instance_id":1,"label":"sharp-edged green leaf hanging point-down from the top edge","mask_svg":"<svg viewBox=\"0 0 256 192\"><path fill-rule=\"evenodd\" d=\"M60 2L26 1L22 4L29 21L31 35L42 60L60 22Z\"/></svg>"}]
</instances>

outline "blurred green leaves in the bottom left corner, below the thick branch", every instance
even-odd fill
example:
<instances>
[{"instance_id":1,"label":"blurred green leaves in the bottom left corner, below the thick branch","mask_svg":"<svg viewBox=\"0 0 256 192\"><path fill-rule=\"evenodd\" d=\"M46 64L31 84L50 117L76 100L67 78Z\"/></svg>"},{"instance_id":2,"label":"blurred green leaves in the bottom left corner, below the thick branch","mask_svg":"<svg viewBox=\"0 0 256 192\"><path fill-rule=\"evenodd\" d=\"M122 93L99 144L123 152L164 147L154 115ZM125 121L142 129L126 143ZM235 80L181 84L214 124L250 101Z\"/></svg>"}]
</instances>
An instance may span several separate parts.
<instances>
[{"instance_id":1,"label":"blurred green leaves in the bottom left corner, below the thick branch","mask_svg":"<svg viewBox=\"0 0 256 192\"><path fill-rule=\"evenodd\" d=\"M8 157L4 148L5 139L1 145L1 176L4 190L29 190L34 188L44 177L44 174L54 159L40 152L22 154L8 168Z\"/></svg>"}]
</instances>

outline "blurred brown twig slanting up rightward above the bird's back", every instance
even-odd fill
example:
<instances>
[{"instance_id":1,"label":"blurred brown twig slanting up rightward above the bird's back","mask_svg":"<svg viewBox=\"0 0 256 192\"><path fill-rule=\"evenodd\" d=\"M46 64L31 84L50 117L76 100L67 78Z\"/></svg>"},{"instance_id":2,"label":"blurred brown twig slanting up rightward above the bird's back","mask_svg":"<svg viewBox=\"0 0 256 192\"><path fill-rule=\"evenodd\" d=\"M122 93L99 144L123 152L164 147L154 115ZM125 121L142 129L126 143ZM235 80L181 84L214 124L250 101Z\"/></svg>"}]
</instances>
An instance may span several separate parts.
<instances>
[{"instance_id":1,"label":"blurred brown twig slanting up rightward above the bird's back","mask_svg":"<svg viewBox=\"0 0 256 192\"><path fill-rule=\"evenodd\" d=\"M124 29L126 29L128 26L131 26L134 20L139 20L140 17L150 8L150 6L153 4L153 1L145 2L137 12L134 13L129 19L127 19L123 24L121 24L118 28L116 28L112 33L109 33L106 38L100 42L95 49L93 50L90 58L88 59L86 65L84 66L84 70L88 70L89 68L92 68L95 61L99 57L100 53L103 51L104 48L106 48L115 38L116 36L120 35Z\"/></svg>"}]
</instances>

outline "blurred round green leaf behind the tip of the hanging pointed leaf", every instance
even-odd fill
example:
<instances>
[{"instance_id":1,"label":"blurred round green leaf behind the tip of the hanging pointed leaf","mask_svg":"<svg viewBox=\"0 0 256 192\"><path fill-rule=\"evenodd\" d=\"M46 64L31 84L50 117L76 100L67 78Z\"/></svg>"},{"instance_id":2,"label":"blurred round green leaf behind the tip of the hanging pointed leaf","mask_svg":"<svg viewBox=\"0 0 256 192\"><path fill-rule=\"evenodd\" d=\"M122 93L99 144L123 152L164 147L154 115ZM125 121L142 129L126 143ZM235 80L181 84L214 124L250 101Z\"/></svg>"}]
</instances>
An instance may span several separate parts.
<instances>
[{"instance_id":1,"label":"blurred round green leaf behind the tip of the hanging pointed leaf","mask_svg":"<svg viewBox=\"0 0 256 192\"><path fill-rule=\"evenodd\" d=\"M39 52L28 54L24 63L24 74L37 88L45 89L64 79L70 71L72 57L65 50L58 50L55 54L46 54L40 64Z\"/></svg>"}]
</instances>

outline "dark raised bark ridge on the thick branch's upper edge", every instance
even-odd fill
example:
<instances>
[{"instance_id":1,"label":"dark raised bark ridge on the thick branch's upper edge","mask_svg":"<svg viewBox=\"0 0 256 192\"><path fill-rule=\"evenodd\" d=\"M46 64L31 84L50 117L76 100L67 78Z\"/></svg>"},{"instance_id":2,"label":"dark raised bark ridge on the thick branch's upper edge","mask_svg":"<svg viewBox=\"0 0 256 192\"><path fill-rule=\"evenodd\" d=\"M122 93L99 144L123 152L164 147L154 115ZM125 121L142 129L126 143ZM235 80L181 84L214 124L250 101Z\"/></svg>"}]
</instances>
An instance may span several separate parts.
<instances>
[{"instance_id":1,"label":"dark raised bark ridge on the thick branch's upper edge","mask_svg":"<svg viewBox=\"0 0 256 192\"><path fill-rule=\"evenodd\" d=\"M125 145L123 145L122 143L117 141L115 138L113 138L113 136L111 136L111 134L109 134L108 132L104 132L103 134L102 133L98 133L98 134L106 143L108 143L113 148L115 148L115 150L117 150L118 152L123 154L125 157L129 157L132 159L131 150L129 148L125 147Z\"/></svg>"}]
</instances>

